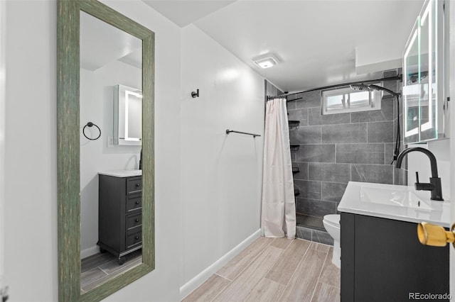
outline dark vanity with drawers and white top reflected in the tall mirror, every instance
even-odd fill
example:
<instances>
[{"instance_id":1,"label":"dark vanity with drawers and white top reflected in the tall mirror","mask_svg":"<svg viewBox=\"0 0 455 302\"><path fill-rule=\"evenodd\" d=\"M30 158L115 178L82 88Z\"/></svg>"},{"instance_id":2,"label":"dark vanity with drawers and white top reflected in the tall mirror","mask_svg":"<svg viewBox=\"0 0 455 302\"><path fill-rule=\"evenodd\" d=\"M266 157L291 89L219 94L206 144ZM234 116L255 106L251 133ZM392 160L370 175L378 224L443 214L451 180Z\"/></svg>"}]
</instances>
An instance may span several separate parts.
<instances>
[{"instance_id":1,"label":"dark vanity with drawers and white top reflected in the tall mirror","mask_svg":"<svg viewBox=\"0 0 455 302\"><path fill-rule=\"evenodd\" d=\"M142 247L142 177L99 173L98 242L119 264Z\"/></svg>"}]
</instances>

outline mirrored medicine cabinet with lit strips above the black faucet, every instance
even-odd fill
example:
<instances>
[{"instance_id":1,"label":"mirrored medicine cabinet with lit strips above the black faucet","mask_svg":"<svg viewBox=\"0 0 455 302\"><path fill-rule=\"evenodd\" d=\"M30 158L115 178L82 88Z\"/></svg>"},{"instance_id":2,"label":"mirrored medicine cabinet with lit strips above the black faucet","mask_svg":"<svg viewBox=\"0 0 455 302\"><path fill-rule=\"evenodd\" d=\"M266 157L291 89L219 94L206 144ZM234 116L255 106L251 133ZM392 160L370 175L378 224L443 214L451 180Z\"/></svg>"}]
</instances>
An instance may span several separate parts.
<instances>
[{"instance_id":1,"label":"mirrored medicine cabinet with lit strips above the black faucet","mask_svg":"<svg viewBox=\"0 0 455 302\"><path fill-rule=\"evenodd\" d=\"M444 1L427 0L403 52L405 144L446 138Z\"/></svg>"}]
</instances>

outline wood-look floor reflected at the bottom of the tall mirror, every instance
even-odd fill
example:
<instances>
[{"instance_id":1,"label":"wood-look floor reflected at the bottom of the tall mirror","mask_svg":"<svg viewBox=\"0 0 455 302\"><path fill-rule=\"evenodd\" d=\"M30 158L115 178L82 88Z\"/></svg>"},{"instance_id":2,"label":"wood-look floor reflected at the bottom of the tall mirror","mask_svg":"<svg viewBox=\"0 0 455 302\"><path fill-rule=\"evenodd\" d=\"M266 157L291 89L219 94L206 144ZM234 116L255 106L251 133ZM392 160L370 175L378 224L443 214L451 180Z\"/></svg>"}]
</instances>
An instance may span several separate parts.
<instances>
[{"instance_id":1,"label":"wood-look floor reflected at the bottom of the tall mirror","mask_svg":"<svg viewBox=\"0 0 455 302\"><path fill-rule=\"evenodd\" d=\"M85 293L112 279L114 276L123 274L129 269L142 263L141 250L124 256L125 262L119 265L117 257L109 252L98 253L80 261L80 292Z\"/></svg>"}]
</instances>

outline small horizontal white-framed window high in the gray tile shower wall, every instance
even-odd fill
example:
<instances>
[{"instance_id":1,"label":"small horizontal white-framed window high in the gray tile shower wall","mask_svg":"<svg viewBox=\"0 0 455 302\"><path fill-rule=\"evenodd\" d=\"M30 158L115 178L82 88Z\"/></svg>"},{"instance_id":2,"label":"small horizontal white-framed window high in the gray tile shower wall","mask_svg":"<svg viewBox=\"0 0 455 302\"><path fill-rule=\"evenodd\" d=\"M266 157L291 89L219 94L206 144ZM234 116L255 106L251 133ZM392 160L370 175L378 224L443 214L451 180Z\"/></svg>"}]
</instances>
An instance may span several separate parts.
<instances>
[{"instance_id":1,"label":"small horizontal white-framed window high in the gray tile shower wall","mask_svg":"<svg viewBox=\"0 0 455 302\"><path fill-rule=\"evenodd\" d=\"M358 91L349 86L323 90L321 91L322 114L380 110L381 98L382 91Z\"/></svg>"}]
</instances>

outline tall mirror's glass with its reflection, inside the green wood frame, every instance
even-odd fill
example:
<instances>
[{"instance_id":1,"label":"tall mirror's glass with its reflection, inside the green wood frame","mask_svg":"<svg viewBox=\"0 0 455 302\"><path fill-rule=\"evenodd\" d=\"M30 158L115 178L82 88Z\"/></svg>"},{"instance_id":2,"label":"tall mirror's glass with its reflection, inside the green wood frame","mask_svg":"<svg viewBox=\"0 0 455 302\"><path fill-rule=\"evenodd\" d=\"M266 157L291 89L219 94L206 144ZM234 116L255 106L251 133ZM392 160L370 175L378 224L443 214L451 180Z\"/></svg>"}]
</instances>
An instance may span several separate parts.
<instances>
[{"instance_id":1,"label":"tall mirror's glass with its reflection, inside the green wood frame","mask_svg":"<svg viewBox=\"0 0 455 302\"><path fill-rule=\"evenodd\" d=\"M142 262L141 54L139 38L80 12L80 125L102 133L80 132L81 293Z\"/></svg>"}]
</instances>

